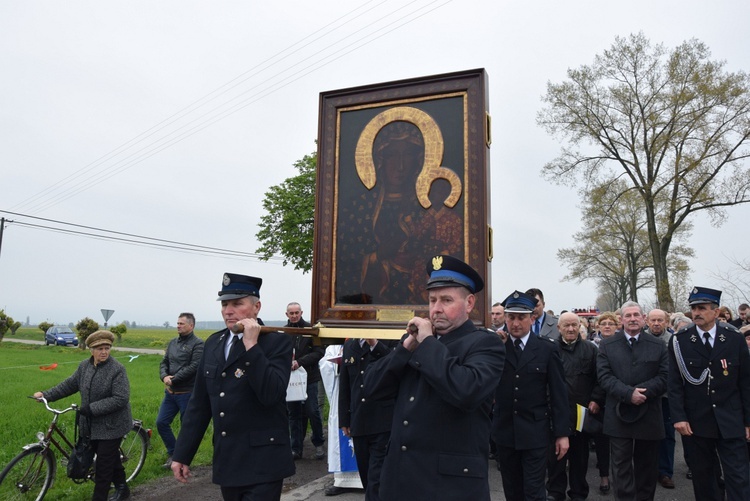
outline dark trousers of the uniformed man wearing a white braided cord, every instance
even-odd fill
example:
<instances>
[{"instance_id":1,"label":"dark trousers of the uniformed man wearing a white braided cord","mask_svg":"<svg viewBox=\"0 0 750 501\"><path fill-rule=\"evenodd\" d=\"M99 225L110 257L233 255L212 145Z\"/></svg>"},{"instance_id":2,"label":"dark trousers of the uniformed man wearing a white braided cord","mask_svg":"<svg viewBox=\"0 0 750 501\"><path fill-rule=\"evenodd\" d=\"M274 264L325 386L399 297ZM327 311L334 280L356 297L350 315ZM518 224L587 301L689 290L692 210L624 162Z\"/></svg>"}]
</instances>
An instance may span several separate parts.
<instances>
[{"instance_id":1,"label":"dark trousers of the uniformed man wearing a white braided cord","mask_svg":"<svg viewBox=\"0 0 750 501\"><path fill-rule=\"evenodd\" d=\"M724 487L729 501L750 499L750 470L747 445L744 438L705 438L695 435L682 437L693 472L695 499L723 500L719 488L720 476L716 453L724 471Z\"/></svg>"}]
</instances>

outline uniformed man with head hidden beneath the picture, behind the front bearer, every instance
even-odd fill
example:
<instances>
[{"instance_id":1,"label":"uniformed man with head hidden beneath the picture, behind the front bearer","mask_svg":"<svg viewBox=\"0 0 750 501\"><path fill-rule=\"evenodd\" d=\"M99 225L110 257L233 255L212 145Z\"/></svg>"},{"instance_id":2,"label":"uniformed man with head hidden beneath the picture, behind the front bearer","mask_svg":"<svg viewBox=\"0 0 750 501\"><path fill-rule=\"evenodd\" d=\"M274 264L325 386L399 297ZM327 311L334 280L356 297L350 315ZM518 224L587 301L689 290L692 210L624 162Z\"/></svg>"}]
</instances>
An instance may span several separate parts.
<instances>
[{"instance_id":1,"label":"uniformed man with head hidden beneath the picture, behind the front bearer","mask_svg":"<svg viewBox=\"0 0 750 501\"><path fill-rule=\"evenodd\" d=\"M394 401L366 399L367 366L386 356L391 346L377 339L347 339L339 376L339 426L354 441L357 470L367 501L380 501L380 472L391 436Z\"/></svg>"}]
</instances>

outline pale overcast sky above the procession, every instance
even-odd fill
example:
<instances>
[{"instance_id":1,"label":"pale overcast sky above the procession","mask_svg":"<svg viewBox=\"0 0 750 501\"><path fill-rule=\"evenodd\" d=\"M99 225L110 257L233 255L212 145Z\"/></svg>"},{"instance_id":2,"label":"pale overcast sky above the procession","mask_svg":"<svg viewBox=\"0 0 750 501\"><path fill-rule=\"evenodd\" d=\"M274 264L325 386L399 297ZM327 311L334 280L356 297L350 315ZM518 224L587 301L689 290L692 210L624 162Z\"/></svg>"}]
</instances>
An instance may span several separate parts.
<instances>
[{"instance_id":1,"label":"pale overcast sky above the procession","mask_svg":"<svg viewBox=\"0 0 750 501\"><path fill-rule=\"evenodd\" d=\"M536 125L546 83L641 30L668 47L698 38L747 71L748 19L746 0L4 1L0 210L254 252L263 193L316 149L320 92L485 68L492 297L538 287L556 312L587 307L594 284L561 282L556 259L580 229L578 196L540 176L561 146ZM728 214L720 228L694 220L692 283L718 287L711 273L746 255L750 207ZM3 236L0 308L32 323L101 323L101 308L110 323L219 320L225 271L264 279L262 317L296 300L309 319L311 274L280 261L18 224Z\"/></svg>"}]
</instances>

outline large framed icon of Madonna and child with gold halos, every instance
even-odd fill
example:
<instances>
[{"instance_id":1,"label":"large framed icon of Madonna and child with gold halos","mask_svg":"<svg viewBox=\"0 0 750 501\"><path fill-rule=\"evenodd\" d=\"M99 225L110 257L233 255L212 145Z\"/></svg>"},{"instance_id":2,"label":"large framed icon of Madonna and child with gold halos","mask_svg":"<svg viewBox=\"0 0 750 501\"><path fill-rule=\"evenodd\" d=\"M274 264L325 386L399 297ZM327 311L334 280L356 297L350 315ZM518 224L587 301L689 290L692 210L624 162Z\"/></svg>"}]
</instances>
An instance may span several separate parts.
<instances>
[{"instance_id":1,"label":"large framed icon of Madonna and child with gold halos","mask_svg":"<svg viewBox=\"0 0 750 501\"><path fill-rule=\"evenodd\" d=\"M426 315L426 265L450 254L485 279L490 120L483 69L320 95L312 319L394 328Z\"/></svg>"}]
</instances>

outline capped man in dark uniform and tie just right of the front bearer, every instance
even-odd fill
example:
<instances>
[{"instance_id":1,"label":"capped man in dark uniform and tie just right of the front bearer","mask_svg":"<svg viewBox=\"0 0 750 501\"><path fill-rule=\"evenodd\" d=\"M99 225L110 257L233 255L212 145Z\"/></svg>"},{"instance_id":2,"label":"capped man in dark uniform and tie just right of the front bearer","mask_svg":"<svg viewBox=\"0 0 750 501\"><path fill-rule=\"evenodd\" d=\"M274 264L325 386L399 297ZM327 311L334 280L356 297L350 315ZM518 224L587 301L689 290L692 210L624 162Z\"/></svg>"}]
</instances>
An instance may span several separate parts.
<instances>
[{"instance_id":1,"label":"capped man in dark uniform and tie just right of the front bearer","mask_svg":"<svg viewBox=\"0 0 750 501\"><path fill-rule=\"evenodd\" d=\"M503 302L508 339L495 392L492 438L508 501L545 500L550 444L557 460L568 451L568 390L557 344L531 331L537 299L515 291ZM469 499L469 498L463 498Z\"/></svg>"}]
</instances>

